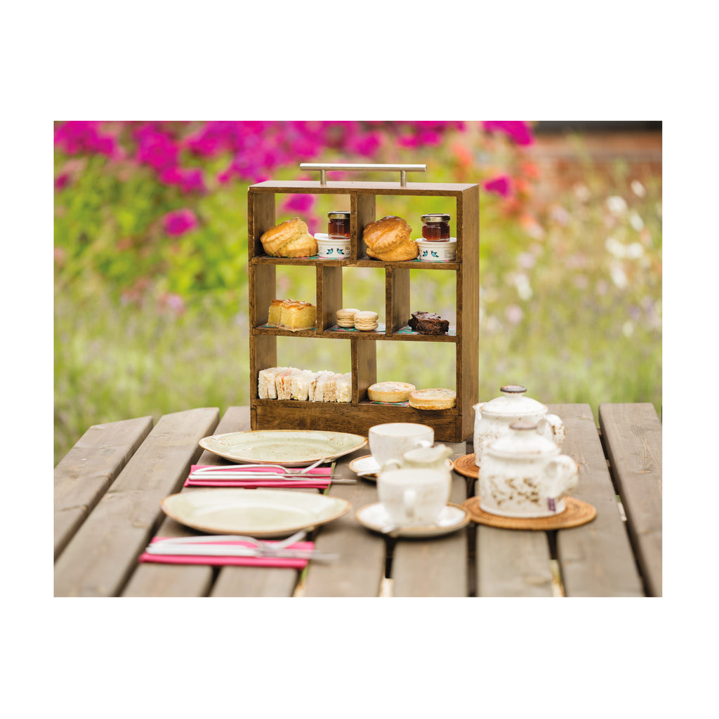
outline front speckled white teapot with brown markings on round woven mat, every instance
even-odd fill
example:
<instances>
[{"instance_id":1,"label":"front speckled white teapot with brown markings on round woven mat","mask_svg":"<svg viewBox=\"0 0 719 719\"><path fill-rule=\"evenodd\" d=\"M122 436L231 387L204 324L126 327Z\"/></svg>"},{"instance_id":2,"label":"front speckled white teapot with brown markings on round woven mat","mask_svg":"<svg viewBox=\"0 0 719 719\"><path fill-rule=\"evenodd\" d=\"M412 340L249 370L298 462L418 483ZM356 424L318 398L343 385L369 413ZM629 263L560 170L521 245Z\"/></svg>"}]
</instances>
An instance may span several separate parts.
<instances>
[{"instance_id":1,"label":"front speckled white teapot with brown markings on round woven mat","mask_svg":"<svg viewBox=\"0 0 719 719\"><path fill-rule=\"evenodd\" d=\"M564 511L577 487L572 457L538 434L536 423L515 422L487 446L479 472L480 507L503 517L549 517Z\"/></svg>"}]
</instances>

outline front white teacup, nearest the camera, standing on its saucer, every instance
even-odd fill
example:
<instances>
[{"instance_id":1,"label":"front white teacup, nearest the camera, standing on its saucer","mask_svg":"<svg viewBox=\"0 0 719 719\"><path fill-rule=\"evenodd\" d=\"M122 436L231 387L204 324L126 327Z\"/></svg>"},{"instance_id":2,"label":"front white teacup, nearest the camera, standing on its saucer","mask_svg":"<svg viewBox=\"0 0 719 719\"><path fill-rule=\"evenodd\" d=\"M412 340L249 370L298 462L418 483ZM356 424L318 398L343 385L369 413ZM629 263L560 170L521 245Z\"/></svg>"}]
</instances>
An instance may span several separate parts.
<instances>
[{"instance_id":1,"label":"front white teacup, nearest the camera, standing on its saucer","mask_svg":"<svg viewBox=\"0 0 719 719\"><path fill-rule=\"evenodd\" d=\"M377 476L377 494L397 526L427 526L446 507L449 482L441 470L391 470Z\"/></svg>"}]
</instances>

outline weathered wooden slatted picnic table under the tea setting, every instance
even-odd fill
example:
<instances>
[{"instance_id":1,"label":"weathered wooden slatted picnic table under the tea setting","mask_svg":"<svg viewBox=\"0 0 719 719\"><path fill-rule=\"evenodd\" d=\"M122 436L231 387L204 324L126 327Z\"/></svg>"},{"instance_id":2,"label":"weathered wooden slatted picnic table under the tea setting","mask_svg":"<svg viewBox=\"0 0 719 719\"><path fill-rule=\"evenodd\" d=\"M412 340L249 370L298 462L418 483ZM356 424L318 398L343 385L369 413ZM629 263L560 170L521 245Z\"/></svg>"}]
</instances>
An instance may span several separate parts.
<instances>
[{"instance_id":1,"label":"weathered wooden slatted picnic table under the tea setting","mask_svg":"<svg viewBox=\"0 0 719 719\"><path fill-rule=\"evenodd\" d=\"M355 510L377 501L376 483L332 485L352 510L314 531L316 549L339 554L303 572L138 562L154 536L196 534L165 516L191 464L225 464L198 441L249 429L249 408L197 408L92 426L55 468L55 596L104 597L659 597L661 423L649 403L603 404L597 428L587 404L555 404L564 454L580 467L574 495L597 509L588 524L517 531L470 523L433 539L372 533ZM454 459L467 442L444 443ZM348 463L365 446L337 461ZM453 472L452 502L475 493ZM238 490L239 491L239 490ZM253 490L242 490L253 491ZM294 489L302 492L319 490Z\"/></svg>"}]
</instances>

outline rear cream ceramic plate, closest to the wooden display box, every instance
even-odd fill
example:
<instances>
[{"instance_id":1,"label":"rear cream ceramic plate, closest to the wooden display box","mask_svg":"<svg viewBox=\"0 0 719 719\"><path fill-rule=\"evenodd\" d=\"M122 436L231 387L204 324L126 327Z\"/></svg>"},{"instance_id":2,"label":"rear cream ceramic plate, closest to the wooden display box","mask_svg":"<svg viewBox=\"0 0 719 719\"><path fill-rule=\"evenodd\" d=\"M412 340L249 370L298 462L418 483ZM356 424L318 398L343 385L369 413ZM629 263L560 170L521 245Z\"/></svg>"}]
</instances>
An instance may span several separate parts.
<instances>
[{"instance_id":1,"label":"rear cream ceramic plate, closest to the wooden display box","mask_svg":"<svg viewBox=\"0 0 719 719\"><path fill-rule=\"evenodd\" d=\"M311 429L260 429L203 437L200 446L231 462L308 467L318 459L331 462L365 446L367 438L346 432Z\"/></svg>"}]
</instances>

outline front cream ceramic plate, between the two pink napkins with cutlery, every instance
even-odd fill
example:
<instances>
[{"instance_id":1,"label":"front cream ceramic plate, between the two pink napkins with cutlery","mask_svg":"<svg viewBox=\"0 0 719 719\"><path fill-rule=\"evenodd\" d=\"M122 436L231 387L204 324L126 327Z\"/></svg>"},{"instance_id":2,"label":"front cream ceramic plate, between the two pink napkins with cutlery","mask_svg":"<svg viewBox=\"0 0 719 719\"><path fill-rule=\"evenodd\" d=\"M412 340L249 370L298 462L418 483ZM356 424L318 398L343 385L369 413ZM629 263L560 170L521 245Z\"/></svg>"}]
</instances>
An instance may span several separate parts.
<instances>
[{"instance_id":1,"label":"front cream ceramic plate, between the two pink napkins with cutlery","mask_svg":"<svg viewBox=\"0 0 719 719\"><path fill-rule=\"evenodd\" d=\"M165 497L162 511L176 522L214 534L282 537L331 522L347 500L280 490L194 490Z\"/></svg>"}]
</instances>

